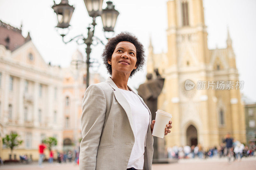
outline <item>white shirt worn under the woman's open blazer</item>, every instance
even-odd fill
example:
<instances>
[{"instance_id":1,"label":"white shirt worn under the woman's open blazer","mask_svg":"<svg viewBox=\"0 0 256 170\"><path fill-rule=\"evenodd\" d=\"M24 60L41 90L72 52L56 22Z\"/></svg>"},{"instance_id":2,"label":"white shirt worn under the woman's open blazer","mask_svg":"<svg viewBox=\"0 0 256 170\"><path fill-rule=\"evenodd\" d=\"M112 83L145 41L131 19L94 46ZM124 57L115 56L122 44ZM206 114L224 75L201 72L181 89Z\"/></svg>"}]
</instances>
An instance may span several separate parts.
<instances>
[{"instance_id":1,"label":"white shirt worn under the woman's open blazer","mask_svg":"<svg viewBox=\"0 0 256 170\"><path fill-rule=\"evenodd\" d=\"M120 88L119 88L120 89ZM140 98L132 91L120 89L132 110L132 130L134 133L134 145L127 168L143 169L145 140L148 132L149 112Z\"/></svg>"}]
</instances>

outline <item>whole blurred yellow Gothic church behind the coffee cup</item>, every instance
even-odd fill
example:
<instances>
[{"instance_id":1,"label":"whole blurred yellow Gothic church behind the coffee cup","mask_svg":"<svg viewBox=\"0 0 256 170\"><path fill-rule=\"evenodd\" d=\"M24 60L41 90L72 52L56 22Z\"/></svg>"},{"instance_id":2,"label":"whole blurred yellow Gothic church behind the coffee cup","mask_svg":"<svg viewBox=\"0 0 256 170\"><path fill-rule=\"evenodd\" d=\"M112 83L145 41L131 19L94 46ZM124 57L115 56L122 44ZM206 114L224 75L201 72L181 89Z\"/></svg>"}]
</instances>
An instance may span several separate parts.
<instances>
[{"instance_id":1,"label":"whole blurred yellow Gothic church behind the coffee cup","mask_svg":"<svg viewBox=\"0 0 256 170\"><path fill-rule=\"evenodd\" d=\"M147 61L148 73L158 68L165 78L158 109L173 115L167 146L215 146L227 133L245 142L244 107L235 88L240 81L229 33L227 48L208 49L202 0L168 1L167 15L168 52L154 54L150 43ZM220 81L224 89L218 89ZM202 82L204 88L199 86ZM234 83L232 88L227 82Z\"/></svg>"}]
</instances>

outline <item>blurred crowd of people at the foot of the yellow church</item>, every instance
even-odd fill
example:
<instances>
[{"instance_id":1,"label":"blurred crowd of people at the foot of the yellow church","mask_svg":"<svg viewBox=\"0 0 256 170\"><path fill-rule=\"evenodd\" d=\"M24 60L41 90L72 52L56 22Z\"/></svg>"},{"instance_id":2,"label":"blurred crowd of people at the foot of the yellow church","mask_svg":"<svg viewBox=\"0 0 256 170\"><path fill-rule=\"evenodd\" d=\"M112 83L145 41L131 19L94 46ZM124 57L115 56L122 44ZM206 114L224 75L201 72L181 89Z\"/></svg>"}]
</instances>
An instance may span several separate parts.
<instances>
[{"instance_id":1,"label":"blurred crowd of people at the foot of the yellow church","mask_svg":"<svg viewBox=\"0 0 256 170\"><path fill-rule=\"evenodd\" d=\"M188 158L212 158L212 157L227 157L228 161L241 160L242 157L256 156L255 142L250 142L248 145L234 140L228 134L219 146L204 148L202 145L190 146L173 146L168 147L168 158L188 159Z\"/></svg>"}]
</instances>

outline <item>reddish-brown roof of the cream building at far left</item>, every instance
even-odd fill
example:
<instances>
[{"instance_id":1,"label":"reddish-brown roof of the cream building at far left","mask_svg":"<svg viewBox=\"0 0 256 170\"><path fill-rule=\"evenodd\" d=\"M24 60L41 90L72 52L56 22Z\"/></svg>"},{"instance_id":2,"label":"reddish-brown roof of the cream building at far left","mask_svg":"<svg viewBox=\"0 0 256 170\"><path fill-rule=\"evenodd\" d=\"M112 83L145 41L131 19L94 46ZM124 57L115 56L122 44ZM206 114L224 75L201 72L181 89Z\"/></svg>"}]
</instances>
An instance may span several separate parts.
<instances>
[{"instance_id":1,"label":"reddish-brown roof of the cream building at far left","mask_svg":"<svg viewBox=\"0 0 256 170\"><path fill-rule=\"evenodd\" d=\"M0 44L3 44L6 49L13 51L29 40L31 40L29 32L25 38L21 34L21 29L15 28L0 20Z\"/></svg>"}]
</instances>

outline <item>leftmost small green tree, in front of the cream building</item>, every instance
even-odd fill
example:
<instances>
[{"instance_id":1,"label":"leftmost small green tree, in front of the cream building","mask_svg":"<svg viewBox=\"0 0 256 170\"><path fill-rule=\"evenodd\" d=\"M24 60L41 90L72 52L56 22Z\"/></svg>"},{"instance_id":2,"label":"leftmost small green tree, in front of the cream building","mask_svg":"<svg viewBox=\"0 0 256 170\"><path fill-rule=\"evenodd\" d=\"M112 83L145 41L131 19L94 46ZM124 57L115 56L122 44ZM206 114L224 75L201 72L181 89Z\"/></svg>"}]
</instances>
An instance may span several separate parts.
<instances>
[{"instance_id":1,"label":"leftmost small green tree, in front of the cream building","mask_svg":"<svg viewBox=\"0 0 256 170\"><path fill-rule=\"evenodd\" d=\"M2 139L3 144L6 145L7 148L11 149L11 155L14 147L19 146L23 142L23 140L18 140L18 137L20 137L20 135L18 135L16 132L11 132L10 135L5 135L5 137Z\"/></svg>"}]
</instances>

